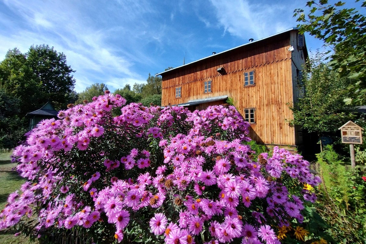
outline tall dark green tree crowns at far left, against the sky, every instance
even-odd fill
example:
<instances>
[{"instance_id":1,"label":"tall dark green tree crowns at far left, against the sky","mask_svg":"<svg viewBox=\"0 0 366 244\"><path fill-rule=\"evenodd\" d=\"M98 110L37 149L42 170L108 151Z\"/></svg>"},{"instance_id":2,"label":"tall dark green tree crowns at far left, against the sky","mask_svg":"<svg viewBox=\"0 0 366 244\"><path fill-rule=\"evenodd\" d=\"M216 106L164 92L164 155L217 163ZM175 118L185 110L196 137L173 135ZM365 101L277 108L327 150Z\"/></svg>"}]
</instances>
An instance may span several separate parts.
<instances>
[{"instance_id":1,"label":"tall dark green tree crowns at far left, against the sky","mask_svg":"<svg viewBox=\"0 0 366 244\"><path fill-rule=\"evenodd\" d=\"M31 46L25 54L14 48L0 63L0 87L20 99L21 116L48 101L66 108L74 89L73 72L66 56L53 47Z\"/></svg>"}]
</instances>

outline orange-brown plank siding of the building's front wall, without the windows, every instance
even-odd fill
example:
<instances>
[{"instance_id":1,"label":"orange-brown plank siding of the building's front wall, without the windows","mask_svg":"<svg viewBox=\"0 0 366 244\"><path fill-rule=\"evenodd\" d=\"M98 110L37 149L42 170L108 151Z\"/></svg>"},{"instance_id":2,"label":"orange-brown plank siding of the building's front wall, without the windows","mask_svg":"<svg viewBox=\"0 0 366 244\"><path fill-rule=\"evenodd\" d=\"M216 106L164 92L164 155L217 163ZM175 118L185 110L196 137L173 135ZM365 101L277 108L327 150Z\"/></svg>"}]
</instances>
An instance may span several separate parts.
<instances>
[{"instance_id":1,"label":"orange-brown plank siding of the building's front wall, without the windows","mask_svg":"<svg viewBox=\"0 0 366 244\"><path fill-rule=\"evenodd\" d=\"M162 106L228 95L243 116L245 108L255 108L255 124L250 129L253 140L295 146L295 129L285 122L293 118L287 103L294 101L289 47L290 32L286 32L166 72L162 74ZM219 74L220 67L227 74ZM251 70L255 85L244 87L244 72ZM212 93L205 94L203 82L208 80L212 80ZM182 87L180 98L175 98L176 87Z\"/></svg>"}]
</instances>

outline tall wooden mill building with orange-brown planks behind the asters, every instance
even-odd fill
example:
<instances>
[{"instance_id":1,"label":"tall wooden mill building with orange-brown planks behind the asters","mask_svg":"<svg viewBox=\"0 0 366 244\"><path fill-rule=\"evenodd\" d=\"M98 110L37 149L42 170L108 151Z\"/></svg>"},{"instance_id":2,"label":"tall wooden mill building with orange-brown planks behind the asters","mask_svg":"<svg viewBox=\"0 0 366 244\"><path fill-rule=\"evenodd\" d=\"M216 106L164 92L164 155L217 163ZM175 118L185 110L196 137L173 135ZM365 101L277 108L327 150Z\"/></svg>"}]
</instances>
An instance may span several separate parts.
<instances>
[{"instance_id":1,"label":"tall wooden mill building with orange-brown planks behind the asters","mask_svg":"<svg viewBox=\"0 0 366 244\"><path fill-rule=\"evenodd\" d=\"M268 146L296 147L301 131L285 121L293 119L288 103L299 97L302 64L308 56L297 28L161 72L161 105L191 110L223 104L232 98L251 124L250 136Z\"/></svg>"}]
</instances>

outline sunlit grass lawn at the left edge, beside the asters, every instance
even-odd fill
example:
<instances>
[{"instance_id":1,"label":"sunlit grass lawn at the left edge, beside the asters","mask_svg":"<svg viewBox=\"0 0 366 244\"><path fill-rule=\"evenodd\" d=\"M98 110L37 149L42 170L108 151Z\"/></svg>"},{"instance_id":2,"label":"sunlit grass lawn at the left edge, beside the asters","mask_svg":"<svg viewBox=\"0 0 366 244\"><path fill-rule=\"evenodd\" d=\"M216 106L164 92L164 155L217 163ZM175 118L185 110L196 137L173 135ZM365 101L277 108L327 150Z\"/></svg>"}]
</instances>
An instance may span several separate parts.
<instances>
[{"instance_id":1,"label":"sunlit grass lawn at the left edge, beside the asters","mask_svg":"<svg viewBox=\"0 0 366 244\"><path fill-rule=\"evenodd\" d=\"M20 188L25 179L20 177L12 168L16 164L10 161L11 153L0 153L0 210L4 209L10 193ZM38 242L30 242L28 237L19 235L14 236L12 230L0 231L0 244L36 244Z\"/></svg>"}]
</instances>

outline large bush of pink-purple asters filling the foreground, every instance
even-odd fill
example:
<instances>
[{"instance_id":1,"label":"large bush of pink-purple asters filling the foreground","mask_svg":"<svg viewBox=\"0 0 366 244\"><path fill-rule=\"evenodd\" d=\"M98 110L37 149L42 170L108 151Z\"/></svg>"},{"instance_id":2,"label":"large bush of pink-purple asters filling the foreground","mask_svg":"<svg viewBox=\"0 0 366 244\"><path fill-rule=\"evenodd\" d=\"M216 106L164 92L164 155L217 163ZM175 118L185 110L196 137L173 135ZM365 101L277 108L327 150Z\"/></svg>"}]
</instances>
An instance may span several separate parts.
<instances>
[{"instance_id":1,"label":"large bush of pink-purple asters filling the foreground","mask_svg":"<svg viewBox=\"0 0 366 244\"><path fill-rule=\"evenodd\" d=\"M255 156L233 106L93 100L41 121L16 147L28 181L9 196L0 229L44 240L78 230L94 243L271 244L275 227L302 222L304 201L315 200L304 187L320 183L309 162L277 147Z\"/></svg>"}]
</instances>

